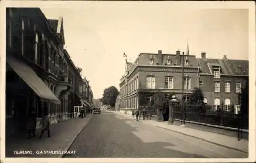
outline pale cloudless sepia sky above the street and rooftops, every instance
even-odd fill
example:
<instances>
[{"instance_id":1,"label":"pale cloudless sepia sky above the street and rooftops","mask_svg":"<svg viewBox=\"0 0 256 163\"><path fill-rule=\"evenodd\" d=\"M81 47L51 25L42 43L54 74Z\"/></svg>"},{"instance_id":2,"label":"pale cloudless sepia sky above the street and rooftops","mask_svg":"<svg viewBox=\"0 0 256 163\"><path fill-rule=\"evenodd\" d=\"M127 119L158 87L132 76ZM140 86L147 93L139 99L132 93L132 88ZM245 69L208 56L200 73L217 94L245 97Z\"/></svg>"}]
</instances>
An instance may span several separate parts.
<instances>
[{"instance_id":1,"label":"pale cloudless sepia sky above the street and rooftops","mask_svg":"<svg viewBox=\"0 0 256 163\"><path fill-rule=\"evenodd\" d=\"M63 17L65 46L90 80L94 98L109 86L119 89L130 61L140 53L174 54L177 49L200 57L248 60L248 10L175 9L166 2L88 2L70 8L41 8L48 19Z\"/></svg>"}]
</instances>

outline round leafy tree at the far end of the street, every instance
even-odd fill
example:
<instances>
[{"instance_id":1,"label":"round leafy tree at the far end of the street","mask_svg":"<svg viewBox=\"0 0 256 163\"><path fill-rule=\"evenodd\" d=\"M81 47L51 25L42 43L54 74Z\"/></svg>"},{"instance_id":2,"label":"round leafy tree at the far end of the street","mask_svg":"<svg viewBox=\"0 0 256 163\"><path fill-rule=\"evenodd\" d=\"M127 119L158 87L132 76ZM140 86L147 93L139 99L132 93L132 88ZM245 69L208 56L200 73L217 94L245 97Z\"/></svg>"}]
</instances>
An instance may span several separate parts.
<instances>
[{"instance_id":1,"label":"round leafy tree at the far end of the street","mask_svg":"<svg viewBox=\"0 0 256 163\"><path fill-rule=\"evenodd\" d=\"M109 88L106 88L104 90L101 102L103 103L103 105L110 105L111 107L114 107L118 94L119 92L116 87L111 86Z\"/></svg>"}]
</instances>

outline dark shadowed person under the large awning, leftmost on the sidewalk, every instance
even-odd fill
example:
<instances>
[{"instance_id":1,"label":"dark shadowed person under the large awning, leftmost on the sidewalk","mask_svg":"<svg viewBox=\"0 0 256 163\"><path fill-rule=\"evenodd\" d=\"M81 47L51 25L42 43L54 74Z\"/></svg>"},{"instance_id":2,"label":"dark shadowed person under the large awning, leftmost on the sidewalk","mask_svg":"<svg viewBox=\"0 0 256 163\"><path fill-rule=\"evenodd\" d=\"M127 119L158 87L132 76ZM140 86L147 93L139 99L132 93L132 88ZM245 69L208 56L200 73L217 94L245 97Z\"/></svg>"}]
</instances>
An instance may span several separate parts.
<instances>
[{"instance_id":1,"label":"dark shadowed person under the large awning, leftmost on the sidewalk","mask_svg":"<svg viewBox=\"0 0 256 163\"><path fill-rule=\"evenodd\" d=\"M35 108L33 108L35 110ZM35 137L35 129L36 129L36 115L35 112L30 110L27 118L26 128L29 133L28 139L30 139L31 132L33 134L33 137Z\"/></svg>"}]
</instances>

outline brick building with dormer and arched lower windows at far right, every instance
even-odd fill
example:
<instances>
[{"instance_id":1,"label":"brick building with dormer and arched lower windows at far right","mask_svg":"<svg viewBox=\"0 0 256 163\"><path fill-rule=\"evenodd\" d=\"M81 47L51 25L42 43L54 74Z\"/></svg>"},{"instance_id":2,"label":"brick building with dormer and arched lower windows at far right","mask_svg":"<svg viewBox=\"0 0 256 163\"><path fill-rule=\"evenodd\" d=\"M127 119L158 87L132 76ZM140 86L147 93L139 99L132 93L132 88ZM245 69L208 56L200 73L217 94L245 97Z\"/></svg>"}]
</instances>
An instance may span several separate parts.
<instances>
[{"instance_id":1,"label":"brick building with dormer and arched lower windows at far right","mask_svg":"<svg viewBox=\"0 0 256 163\"><path fill-rule=\"evenodd\" d=\"M206 53L198 58L200 66L199 87L203 91L204 101L213 105L224 106L225 111L238 113L240 103L238 94L249 82L249 62L247 60L210 59Z\"/></svg>"}]
</instances>

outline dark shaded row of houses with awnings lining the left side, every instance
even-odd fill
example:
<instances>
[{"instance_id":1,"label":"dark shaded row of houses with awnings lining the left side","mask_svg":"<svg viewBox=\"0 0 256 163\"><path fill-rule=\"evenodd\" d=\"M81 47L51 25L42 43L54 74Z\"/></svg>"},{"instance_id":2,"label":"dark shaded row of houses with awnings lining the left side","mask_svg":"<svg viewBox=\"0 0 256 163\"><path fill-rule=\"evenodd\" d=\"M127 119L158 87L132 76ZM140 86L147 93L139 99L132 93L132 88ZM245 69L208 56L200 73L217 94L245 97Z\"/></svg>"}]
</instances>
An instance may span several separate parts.
<instances>
[{"instance_id":1,"label":"dark shaded row of houses with awnings lining the left side","mask_svg":"<svg viewBox=\"0 0 256 163\"><path fill-rule=\"evenodd\" d=\"M47 19L40 8L6 9L6 131L23 131L29 111L51 123L90 109L93 92L64 48L63 18Z\"/></svg>"}]
</instances>

